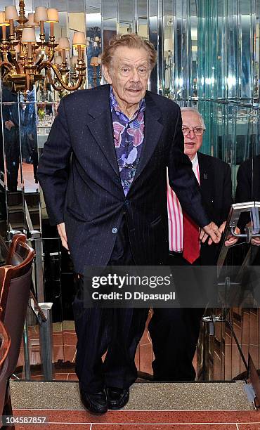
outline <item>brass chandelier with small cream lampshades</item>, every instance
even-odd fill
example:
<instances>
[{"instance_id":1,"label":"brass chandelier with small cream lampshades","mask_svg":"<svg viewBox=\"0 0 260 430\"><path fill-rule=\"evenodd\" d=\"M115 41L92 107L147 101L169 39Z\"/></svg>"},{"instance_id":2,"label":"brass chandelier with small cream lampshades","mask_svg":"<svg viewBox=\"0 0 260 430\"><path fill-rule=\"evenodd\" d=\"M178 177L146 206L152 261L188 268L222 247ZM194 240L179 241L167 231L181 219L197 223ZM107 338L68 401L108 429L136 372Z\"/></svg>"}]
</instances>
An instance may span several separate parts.
<instances>
[{"instance_id":1,"label":"brass chandelier with small cream lampshades","mask_svg":"<svg viewBox=\"0 0 260 430\"><path fill-rule=\"evenodd\" d=\"M18 25L14 25L17 21ZM70 51L70 41L60 37L56 43L54 22L58 22L58 11L39 6L35 13L25 16L25 1L19 1L19 15L15 6L6 6L0 12L2 39L0 44L0 66L4 81L11 82L15 91L32 91L35 82L49 82L56 91L74 91L83 86L86 79L84 51L86 37L84 32L74 32L72 46L77 50L73 60L74 72L70 74L66 51ZM49 40L46 40L44 22L50 22ZM6 27L9 27L7 37ZM40 27L39 41L35 37L35 27ZM56 60L58 51L58 60ZM75 60L75 57L77 58ZM45 73L42 73L42 72Z\"/></svg>"}]
</instances>

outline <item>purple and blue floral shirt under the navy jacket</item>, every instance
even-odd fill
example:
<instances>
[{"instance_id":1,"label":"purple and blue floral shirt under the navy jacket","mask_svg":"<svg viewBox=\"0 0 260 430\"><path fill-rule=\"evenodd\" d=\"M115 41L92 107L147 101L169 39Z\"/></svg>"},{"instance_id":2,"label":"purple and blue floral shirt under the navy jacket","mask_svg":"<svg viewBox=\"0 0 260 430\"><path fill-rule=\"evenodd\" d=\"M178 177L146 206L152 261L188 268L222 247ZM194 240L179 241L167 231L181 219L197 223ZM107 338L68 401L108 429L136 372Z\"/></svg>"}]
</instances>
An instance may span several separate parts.
<instances>
[{"instance_id":1,"label":"purple and blue floral shirt under the navy jacket","mask_svg":"<svg viewBox=\"0 0 260 430\"><path fill-rule=\"evenodd\" d=\"M140 101L138 110L136 110L133 117L129 119L120 111L111 87L110 108L119 174L124 189L124 195L126 195L134 180L141 150L143 148L145 100L143 98Z\"/></svg>"}]
</instances>

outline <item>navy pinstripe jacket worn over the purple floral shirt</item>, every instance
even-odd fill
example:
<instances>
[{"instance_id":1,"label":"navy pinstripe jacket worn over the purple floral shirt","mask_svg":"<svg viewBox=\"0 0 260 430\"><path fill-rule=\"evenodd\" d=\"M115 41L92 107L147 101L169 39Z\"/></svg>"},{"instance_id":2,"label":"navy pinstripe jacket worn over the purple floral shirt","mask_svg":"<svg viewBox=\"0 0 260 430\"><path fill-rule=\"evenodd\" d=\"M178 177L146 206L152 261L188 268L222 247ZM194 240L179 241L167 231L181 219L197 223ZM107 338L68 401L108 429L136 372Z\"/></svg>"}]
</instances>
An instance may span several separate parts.
<instances>
[{"instance_id":1,"label":"navy pinstripe jacket worn over the purple floral shirt","mask_svg":"<svg viewBox=\"0 0 260 430\"><path fill-rule=\"evenodd\" d=\"M209 223L191 163L183 154L176 103L147 91L145 140L128 195L122 189L109 101L110 86L63 98L37 177L52 225L65 221L74 269L105 265L125 214L137 264L167 261L166 168L181 205L199 226Z\"/></svg>"}]
</instances>

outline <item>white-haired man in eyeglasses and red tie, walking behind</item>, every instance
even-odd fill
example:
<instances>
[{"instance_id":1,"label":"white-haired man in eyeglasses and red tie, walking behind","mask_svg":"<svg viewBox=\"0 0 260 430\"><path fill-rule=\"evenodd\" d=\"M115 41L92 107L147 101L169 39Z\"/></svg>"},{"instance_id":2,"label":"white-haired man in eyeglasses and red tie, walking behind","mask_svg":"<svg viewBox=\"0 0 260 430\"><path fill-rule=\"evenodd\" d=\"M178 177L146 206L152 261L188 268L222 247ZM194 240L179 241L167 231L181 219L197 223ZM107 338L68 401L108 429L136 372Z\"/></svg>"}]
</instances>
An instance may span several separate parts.
<instances>
[{"instance_id":1,"label":"white-haired man in eyeglasses and red tie, walking behind","mask_svg":"<svg viewBox=\"0 0 260 430\"><path fill-rule=\"evenodd\" d=\"M184 152L193 164L200 183L207 213L223 233L232 204L230 167L216 157L198 152L202 146L205 124L193 107L181 108ZM169 224L169 266L208 265L216 263L218 245L183 211L174 190L167 183ZM234 245L234 237L226 246ZM211 245L211 246L209 246ZM200 332L202 308L156 308L149 324L155 360L154 379L191 381L195 379L193 357Z\"/></svg>"}]
</instances>

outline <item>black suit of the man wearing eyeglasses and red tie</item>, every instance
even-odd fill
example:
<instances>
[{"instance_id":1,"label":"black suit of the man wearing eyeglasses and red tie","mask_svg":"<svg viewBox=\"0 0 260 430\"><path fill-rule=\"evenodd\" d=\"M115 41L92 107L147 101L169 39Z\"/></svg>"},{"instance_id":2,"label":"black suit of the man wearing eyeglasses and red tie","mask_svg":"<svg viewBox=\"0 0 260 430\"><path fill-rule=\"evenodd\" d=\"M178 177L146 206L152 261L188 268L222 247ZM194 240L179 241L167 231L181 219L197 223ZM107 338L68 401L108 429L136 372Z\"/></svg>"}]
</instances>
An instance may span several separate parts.
<instances>
[{"instance_id":1,"label":"black suit of the man wearing eyeglasses and red tie","mask_svg":"<svg viewBox=\"0 0 260 430\"><path fill-rule=\"evenodd\" d=\"M200 188L207 213L220 226L228 217L232 204L231 171L227 163L197 153ZM201 243L200 258L193 265L213 266L219 245ZM188 266L181 254L170 255L170 266ZM183 270L185 270L183 268ZM193 357L200 333L202 308L156 308L148 326L155 360L154 379L192 381L195 379Z\"/></svg>"}]
</instances>

